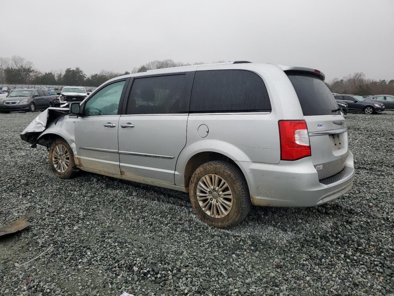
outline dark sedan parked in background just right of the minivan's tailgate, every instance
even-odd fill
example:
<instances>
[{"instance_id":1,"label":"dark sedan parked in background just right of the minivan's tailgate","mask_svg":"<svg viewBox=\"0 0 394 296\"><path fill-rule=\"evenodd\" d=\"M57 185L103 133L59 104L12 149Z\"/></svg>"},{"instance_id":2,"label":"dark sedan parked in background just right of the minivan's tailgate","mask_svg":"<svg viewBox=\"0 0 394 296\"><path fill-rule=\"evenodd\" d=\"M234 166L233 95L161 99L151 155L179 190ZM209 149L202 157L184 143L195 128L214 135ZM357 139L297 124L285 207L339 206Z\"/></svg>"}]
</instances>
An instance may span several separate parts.
<instances>
[{"instance_id":1,"label":"dark sedan parked in background just right of the minivan's tailgate","mask_svg":"<svg viewBox=\"0 0 394 296\"><path fill-rule=\"evenodd\" d=\"M361 96L340 94L334 96L336 101L347 103L349 112L364 112L365 114L373 114L385 111L385 105L376 103L370 99L364 99Z\"/></svg>"}]
</instances>

